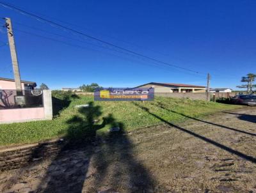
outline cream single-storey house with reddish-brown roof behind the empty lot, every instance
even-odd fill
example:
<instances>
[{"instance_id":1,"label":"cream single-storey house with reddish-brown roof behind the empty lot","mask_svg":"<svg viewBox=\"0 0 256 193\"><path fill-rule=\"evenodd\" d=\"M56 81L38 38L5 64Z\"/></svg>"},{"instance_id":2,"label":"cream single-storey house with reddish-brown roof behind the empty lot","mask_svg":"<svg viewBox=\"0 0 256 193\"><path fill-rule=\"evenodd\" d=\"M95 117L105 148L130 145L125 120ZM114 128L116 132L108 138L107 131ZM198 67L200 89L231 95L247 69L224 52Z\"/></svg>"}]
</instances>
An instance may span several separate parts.
<instances>
[{"instance_id":1,"label":"cream single-storey house with reddish-brown roof behind the empty lot","mask_svg":"<svg viewBox=\"0 0 256 193\"><path fill-rule=\"evenodd\" d=\"M155 93L205 93L205 86L177 83L149 82L136 88L154 88Z\"/></svg>"}]
</instances>

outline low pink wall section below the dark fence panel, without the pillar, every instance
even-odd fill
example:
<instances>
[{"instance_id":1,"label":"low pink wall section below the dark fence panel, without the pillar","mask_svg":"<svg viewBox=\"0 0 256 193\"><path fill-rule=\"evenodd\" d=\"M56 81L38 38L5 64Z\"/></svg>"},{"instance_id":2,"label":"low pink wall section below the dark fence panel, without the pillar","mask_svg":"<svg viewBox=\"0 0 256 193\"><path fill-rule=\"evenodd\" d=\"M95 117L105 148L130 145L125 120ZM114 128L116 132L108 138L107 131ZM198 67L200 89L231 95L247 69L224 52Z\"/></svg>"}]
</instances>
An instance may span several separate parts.
<instances>
[{"instance_id":1,"label":"low pink wall section below the dark fence panel, without the pillar","mask_svg":"<svg viewBox=\"0 0 256 193\"><path fill-rule=\"evenodd\" d=\"M44 119L44 107L0 110L0 122Z\"/></svg>"}]
</instances>

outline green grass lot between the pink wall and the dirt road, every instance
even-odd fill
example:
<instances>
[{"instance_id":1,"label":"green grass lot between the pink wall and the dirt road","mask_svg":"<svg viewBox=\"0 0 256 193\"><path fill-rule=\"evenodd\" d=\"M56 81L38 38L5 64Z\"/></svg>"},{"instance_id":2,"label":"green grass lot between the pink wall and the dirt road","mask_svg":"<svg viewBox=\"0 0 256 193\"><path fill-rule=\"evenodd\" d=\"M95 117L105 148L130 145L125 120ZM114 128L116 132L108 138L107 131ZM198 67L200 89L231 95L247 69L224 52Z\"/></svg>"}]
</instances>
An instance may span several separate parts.
<instances>
[{"instance_id":1,"label":"green grass lot between the pink wall and the dirt road","mask_svg":"<svg viewBox=\"0 0 256 193\"><path fill-rule=\"evenodd\" d=\"M82 104L90 106L82 109L75 107ZM237 107L239 106L163 97L156 97L152 102L93 102L93 96L79 96L72 98L65 109L55 109L54 112L58 115L52 121L0 125L0 145L35 143L62 136L76 139L83 135L104 134L113 126L128 131L161 123L147 111L154 112L170 123L180 123L186 120L180 114L195 118Z\"/></svg>"}]
</instances>

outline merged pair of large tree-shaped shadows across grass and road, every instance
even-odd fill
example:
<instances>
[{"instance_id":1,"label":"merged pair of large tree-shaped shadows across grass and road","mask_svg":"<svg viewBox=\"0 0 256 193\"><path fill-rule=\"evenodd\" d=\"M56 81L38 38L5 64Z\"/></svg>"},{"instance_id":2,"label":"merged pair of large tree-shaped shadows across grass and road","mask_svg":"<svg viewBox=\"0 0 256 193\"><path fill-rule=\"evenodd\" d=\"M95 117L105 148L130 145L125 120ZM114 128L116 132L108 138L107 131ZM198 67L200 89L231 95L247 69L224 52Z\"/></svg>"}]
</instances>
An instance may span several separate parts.
<instances>
[{"instance_id":1,"label":"merged pair of large tree-shaped shadows across grass and road","mask_svg":"<svg viewBox=\"0 0 256 193\"><path fill-rule=\"evenodd\" d=\"M133 156L131 141L122 131L123 124L111 114L98 124L101 114L100 106L91 102L67 121L65 141L68 142L51 161L36 192L82 192L83 189L87 192L149 192L153 188L154 180ZM120 130L97 139L97 130L106 125ZM91 165L97 170L95 173ZM84 187L88 179L90 185Z\"/></svg>"}]
</instances>

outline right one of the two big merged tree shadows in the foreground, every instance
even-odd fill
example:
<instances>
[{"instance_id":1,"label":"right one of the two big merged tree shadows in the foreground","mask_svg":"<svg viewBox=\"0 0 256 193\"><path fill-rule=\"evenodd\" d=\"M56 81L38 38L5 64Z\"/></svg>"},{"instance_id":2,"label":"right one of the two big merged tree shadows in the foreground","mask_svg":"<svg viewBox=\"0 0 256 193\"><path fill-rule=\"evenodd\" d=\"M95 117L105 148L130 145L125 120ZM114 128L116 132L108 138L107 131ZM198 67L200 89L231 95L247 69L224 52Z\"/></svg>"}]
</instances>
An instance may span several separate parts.
<instances>
[{"instance_id":1,"label":"right one of the two big merged tree shadows in the foreground","mask_svg":"<svg viewBox=\"0 0 256 193\"><path fill-rule=\"evenodd\" d=\"M153 192L156 180L134 157L132 143L123 130L124 125L113 120L111 127L120 127L120 131L106 135L105 143L95 155L97 174L90 192L106 189L106 185L108 192ZM161 187L161 191L163 189Z\"/></svg>"}]
</instances>

